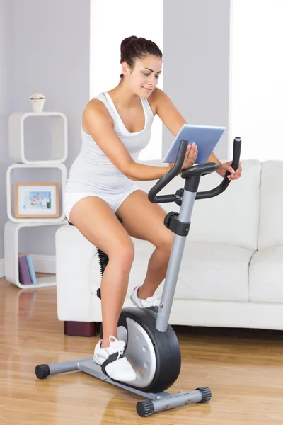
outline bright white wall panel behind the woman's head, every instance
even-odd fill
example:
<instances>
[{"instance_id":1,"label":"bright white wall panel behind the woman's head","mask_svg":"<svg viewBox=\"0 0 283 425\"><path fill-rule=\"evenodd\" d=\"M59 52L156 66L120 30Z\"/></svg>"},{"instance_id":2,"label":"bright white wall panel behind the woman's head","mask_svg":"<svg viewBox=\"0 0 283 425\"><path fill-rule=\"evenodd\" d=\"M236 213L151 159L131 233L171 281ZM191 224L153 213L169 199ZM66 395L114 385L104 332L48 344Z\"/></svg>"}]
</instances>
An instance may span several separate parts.
<instances>
[{"instance_id":1,"label":"bright white wall panel behind the woman's head","mask_svg":"<svg viewBox=\"0 0 283 425\"><path fill-rule=\"evenodd\" d=\"M120 44L130 35L153 40L163 51L163 0L143 0L140 10L133 0L91 1L91 98L119 84ZM158 87L163 88L162 74ZM151 140L139 159L161 158L161 150L162 122L156 115Z\"/></svg>"}]
</instances>

